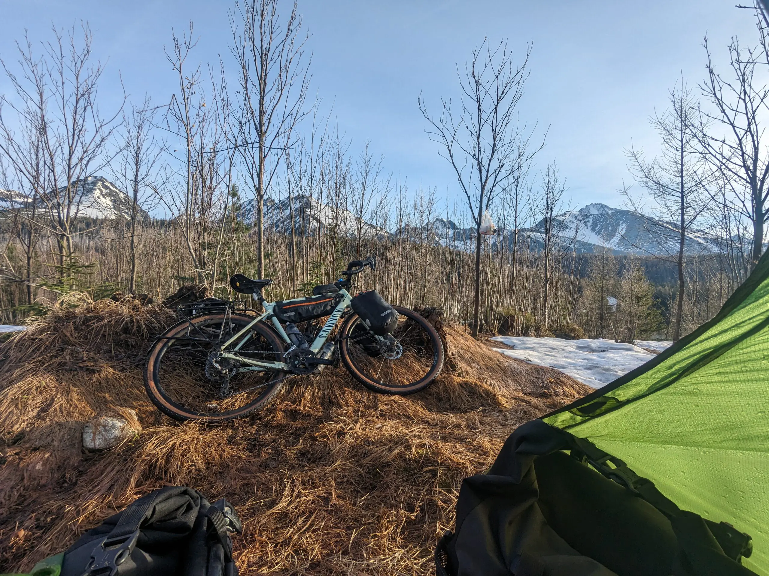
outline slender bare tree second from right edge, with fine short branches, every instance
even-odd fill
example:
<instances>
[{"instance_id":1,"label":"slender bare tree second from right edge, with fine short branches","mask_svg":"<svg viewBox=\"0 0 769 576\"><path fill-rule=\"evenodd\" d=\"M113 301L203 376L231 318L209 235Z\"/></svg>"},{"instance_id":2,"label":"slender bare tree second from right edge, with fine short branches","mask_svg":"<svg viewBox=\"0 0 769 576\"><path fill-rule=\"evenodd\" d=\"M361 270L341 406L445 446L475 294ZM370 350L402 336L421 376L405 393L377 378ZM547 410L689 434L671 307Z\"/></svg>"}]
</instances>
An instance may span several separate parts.
<instances>
[{"instance_id":1,"label":"slender bare tree second from right edge, with fine short branches","mask_svg":"<svg viewBox=\"0 0 769 576\"><path fill-rule=\"evenodd\" d=\"M678 290L673 319L673 340L681 338L681 314L684 310L684 250L687 237L709 204L707 184L710 179L697 137L697 103L683 78L670 91L670 108L655 113L651 126L661 137L662 149L651 161L644 151L628 151L631 173L651 196L661 217L675 223L671 235L656 237L666 256L657 257L676 263ZM638 211L638 210L637 210ZM666 240L675 240L677 250L670 253Z\"/></svg>"}]
</instances>

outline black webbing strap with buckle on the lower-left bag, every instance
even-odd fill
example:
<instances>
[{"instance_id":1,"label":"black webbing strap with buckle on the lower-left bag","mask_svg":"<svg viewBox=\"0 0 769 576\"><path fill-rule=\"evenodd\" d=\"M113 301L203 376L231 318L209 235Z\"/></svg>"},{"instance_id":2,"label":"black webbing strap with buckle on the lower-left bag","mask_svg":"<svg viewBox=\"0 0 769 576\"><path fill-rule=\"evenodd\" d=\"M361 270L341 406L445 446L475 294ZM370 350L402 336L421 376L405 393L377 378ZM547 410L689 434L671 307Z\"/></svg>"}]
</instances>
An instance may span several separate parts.
<instances>
[{"instance_id":1,"label":"black webbing strap with buckle on the lower-left bag","mask_svg":"<svg viewBox=\"0 0 769 576\"><path fill-rule=\"evenodd\" d=\"M158 492L152 492L128 505L112 531L104 538L98 538L91 552L91 561L82 576L115 576L136 545L141 523L155 505Z\"/></svg>"}]
</instances>

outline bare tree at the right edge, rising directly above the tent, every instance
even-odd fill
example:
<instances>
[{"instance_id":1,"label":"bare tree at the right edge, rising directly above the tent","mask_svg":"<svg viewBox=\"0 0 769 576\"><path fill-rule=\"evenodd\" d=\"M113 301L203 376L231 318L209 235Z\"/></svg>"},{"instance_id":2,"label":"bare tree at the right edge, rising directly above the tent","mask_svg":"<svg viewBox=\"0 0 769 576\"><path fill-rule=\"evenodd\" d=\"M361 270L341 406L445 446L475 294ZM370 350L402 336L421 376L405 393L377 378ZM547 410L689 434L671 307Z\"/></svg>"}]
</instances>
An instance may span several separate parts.
<instances>
[{"instance_id":1,"label":"bare tree at the right edge, rising directly above the tent","mask_svg":"<svg viewBox=\"0 0 769 576\"><path fill-rule=\"evenodd\" d=\"M703 122L699 139L709 160L727 175L737 204L753 225L752 265L764 250L764 224L769 220L769 148L762 141L762 119L769 105L769 87L757 74L769 65L769 29L759 9L756 12L759 42L743 48L737 37L728 46L731 78L716 71L707 38L707 78L700 88L712 104L703 110L703 118L713 121L717 129Z\"/></svg>"}]
</instances>

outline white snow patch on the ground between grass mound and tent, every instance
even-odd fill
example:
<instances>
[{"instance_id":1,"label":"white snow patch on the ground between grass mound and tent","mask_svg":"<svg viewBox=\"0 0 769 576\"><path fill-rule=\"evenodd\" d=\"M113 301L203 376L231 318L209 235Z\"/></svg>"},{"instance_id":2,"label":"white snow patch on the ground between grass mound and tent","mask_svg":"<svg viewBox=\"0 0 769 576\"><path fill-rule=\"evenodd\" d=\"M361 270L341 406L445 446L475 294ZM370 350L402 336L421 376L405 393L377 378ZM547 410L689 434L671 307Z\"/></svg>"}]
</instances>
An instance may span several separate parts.
<instances>
[{"instance_id":1,"label":"white snow patch on the ground between grass mound and tent","mask_svg":"<svg viewBox=\"0 0 769 576\"><path fill-rule=\"evenodd\" d=\"M602 338L562 340L531 336L494 336L491 340L512 347L495 348L504 356L561 370L592 388L607 385L655 356L638 346Z\"/></svg>"}]
</instances>

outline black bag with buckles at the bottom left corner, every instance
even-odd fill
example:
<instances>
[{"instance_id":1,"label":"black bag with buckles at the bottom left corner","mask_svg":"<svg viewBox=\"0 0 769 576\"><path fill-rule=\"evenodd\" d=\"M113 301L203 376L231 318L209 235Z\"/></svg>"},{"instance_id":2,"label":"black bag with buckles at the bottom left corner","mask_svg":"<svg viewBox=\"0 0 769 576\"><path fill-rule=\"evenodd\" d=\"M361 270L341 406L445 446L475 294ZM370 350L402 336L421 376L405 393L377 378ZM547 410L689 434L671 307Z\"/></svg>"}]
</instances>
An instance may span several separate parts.
<instances>
[{"instance_id":1,"label":"black bag with buckles at the bottom left corner","mask_svg":"<svg viewBox=\"0 0 769 576\"><path fill-rule=\"evenodd\" d=\"M61 576L237 576L235 509L221 498L170 486L138 498L85 532L64 554Z\"/></svg>"}]
</instances>

